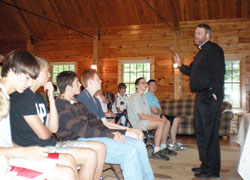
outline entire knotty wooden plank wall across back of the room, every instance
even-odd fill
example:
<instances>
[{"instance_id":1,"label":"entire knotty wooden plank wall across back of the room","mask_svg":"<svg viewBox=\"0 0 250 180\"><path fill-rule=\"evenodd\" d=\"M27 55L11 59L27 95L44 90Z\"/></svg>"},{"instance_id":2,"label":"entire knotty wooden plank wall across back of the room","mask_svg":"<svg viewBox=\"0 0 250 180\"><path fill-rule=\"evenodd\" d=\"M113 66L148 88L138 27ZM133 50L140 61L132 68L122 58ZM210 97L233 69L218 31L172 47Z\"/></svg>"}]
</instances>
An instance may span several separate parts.
<instances>
[{"instance_id":1,"label":"entire knotty wooden plank wall across back of the room","mask_svg":"<svg viewBox=\"0 0 250 180\"><path fill-rule=\"evenodd\" d=\"M198 49L193 44L195 26L208 23L213 30L212 41L218 43L228 58L241 59L242 107L249 107L250 92L250 22L246 19L189 21L180 23L176 36L165 24L112 27L101 29L99 69L103 80L103 91L117 92L120 81L121 60L153 59L154 78L157 80L157 96L160 99L174 98L174 69L172 55L175 51L185 64L189 64ZM85 30L91 33L91 30ZM96 35L93 33L92 35ZM77 72L89 68L93 60L93 39L70 30L34 35L34 54L50 62L77 62ZM24 48L24 40L2 40L0 54L6 55L11 49ZM21 42L21 43L20 43ZM14 44L14 45L13 45ZM179 97L194 96L189 89L189 78L181 75ZM178 88L176 88L178 89Z\"/></svg>"}]
</instances>

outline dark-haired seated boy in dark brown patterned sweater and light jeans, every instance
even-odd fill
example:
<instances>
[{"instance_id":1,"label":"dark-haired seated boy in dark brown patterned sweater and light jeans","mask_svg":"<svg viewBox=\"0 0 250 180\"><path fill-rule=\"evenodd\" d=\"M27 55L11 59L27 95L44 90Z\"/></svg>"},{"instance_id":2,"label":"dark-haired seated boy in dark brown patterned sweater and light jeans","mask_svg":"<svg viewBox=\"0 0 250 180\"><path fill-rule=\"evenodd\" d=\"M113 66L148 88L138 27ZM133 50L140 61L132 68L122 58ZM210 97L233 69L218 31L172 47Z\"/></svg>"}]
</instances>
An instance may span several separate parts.
<instances>
[{"instance_id":1,"label":"dark-haired seated boy in dark brown patterned sweater and light jeans","mask_svg":"<svg viewBox=\"0 0 250 180\"><path fill-rule=\"evenodd\" d=\"M81 86L75 72L61 72L57 76L57 86L61 93L56 99L59 139L79 138L103 142L107 149L105 162L119 164L125 180L154 179L145 144L137 139L124 137L122 134L126 133L125 128L107 128L101 119L74 99L80 93Z\"/></svg>"}]
</instances>

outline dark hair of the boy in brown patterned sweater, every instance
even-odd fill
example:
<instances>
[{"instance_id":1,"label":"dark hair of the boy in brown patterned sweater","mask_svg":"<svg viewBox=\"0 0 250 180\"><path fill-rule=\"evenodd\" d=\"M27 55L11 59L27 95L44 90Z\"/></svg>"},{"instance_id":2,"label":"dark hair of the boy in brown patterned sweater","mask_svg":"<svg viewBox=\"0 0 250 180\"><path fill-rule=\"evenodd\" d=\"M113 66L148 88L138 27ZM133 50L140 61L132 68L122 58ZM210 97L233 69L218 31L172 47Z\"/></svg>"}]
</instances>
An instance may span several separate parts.
<instances>
[{"instance_id":1,"label":"dark hair of the boy in brown patterned sweater","mask_svg":"<svg viewBox=\"0 0 250 180\"><path fill-rule=\"evenodd\" d=\"M77 74L73 71L63 71L56 77L56 84L60 93L64 93L67 86L72 86Z\"/></svg>"}]
</instances>

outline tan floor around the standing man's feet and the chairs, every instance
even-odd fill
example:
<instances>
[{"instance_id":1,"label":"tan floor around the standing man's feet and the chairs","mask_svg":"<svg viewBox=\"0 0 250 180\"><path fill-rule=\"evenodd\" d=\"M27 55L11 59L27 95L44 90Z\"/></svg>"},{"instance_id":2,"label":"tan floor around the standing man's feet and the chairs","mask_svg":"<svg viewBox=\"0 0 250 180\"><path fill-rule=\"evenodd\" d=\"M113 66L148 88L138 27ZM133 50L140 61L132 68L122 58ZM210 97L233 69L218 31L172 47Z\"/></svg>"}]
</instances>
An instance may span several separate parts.
<instances>
[{"instance_id":1,"label":"tan floor around the standing man's feet and the chairs","mask_svg":"<svg viewBox=\"0 0 250 180\"><path fill-rule=\"evenodd\" d=\"M220 138L221 151L223 153L221 156L221 177L218 180L241 180L237 172L240 147L236 143L236 137L237 134L231 134L229 138ZM176 157L171 156L170 161L167 162L150 160L156 180L198 180L194 178L193 172L190 170L192 167L200 164L195 137L177 136L177 142L183 143L187 149L185 151L178 151L178 155ZM190 151L191 149L197 152L194 154L193 151ZM105 167L108 166L105 165ZM121 178L122 175L119 166L115 165L115 169ZM111 171L104 173L103 177L104 180L116 179Z\"/></svg>"}]
</instances>

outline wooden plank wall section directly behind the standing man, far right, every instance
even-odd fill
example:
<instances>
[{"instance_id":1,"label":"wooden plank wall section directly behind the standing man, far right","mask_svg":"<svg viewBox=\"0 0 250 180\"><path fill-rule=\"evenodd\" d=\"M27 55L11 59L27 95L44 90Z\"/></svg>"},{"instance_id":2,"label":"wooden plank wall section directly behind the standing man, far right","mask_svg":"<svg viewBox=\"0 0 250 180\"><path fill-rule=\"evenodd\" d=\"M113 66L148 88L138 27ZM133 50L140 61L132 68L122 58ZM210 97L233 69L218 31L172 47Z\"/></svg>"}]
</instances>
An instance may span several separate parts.
<instances>
[{"instance_id":1,"label":"wooden plank wall section directly behind the standing man, far right","mask_svg":"<svg viewBox=\"0 0 250 180\"><path fill-rule=\"evenodd\" d=\"M200 23L207 23L211 26L212 41L223 48L226 58L241 60L241 105L243 108L249 108L250 21L231 19L180 23L180 54L184 64L190 64L198 51L193 45L193 33L196 25ZM189 78L185 75L182 76L182 85L182 96L193 96L189 89Z\"/></svg>"}]
</instances>

